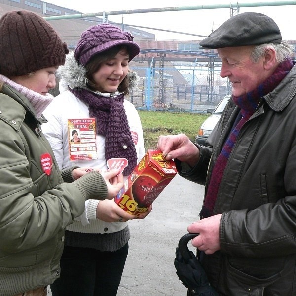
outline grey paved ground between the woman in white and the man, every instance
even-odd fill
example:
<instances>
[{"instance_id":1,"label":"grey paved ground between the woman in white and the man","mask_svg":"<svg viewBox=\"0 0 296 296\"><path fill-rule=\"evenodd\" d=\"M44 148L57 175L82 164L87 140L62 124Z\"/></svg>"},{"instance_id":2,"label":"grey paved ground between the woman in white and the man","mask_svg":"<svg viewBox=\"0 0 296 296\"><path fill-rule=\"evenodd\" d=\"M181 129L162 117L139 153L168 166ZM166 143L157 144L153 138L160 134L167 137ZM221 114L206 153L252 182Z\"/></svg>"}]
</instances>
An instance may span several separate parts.
<instances>
[{"instance_id":1,"label":"grey paved ground between the woman in white and the man","mask_svg":"<svg viewBox=\"0 0 296 296\"><path fill-rule=\"evenodd\" d=\"M176 275L175 250L187 226L199 219L203 192L203 186L177 175L146 219L129 222L130 251L117 296L186 295ZM188 247L193 250L190 242Z\"/></svg>"}]
</instances>

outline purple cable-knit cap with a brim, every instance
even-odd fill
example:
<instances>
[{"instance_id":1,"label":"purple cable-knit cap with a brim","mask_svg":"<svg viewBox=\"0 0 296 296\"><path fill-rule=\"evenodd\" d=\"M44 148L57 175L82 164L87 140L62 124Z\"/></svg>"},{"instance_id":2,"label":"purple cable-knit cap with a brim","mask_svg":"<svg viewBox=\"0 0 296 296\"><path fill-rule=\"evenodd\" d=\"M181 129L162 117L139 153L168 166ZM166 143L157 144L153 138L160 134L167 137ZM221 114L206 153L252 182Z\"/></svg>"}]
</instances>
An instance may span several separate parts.
<instances>
[{"instance_id":1,"label":"purple cable-knit cap with a brim","mask_svg":"<svg viewBox=\"0 0 296 296\"><path fill-rule=\"evenodd\" d=\"M117 45L126 45L129 48L129 61L131 61L140 52L139 45L133 39L130 33L114 25L91 26L81 34L74 56L80 65L85 66L95 54Z\"/></svg>"}]
</instances>

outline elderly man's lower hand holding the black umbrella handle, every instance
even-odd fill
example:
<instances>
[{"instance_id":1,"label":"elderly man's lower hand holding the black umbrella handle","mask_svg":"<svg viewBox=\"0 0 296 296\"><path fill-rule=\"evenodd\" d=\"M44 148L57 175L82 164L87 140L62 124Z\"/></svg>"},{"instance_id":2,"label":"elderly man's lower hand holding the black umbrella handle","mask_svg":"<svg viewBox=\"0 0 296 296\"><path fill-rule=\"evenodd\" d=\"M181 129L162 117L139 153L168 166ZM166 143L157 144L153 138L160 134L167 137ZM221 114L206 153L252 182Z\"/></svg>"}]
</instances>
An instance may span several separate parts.
<instances>
[{"instance_id":1,"label":"elderly man's lower hand holding the black umbrella handle","mask_svg":"<svg viewBox=\"0 0 296 296\"><path fill-rule=\"evenodd\" d=\"M222 214L204 218L187 227L190 233L199 233L192 239L192 245L206 254L213 254L220 250L219 228Z\"/></svg>"}]
</instances>

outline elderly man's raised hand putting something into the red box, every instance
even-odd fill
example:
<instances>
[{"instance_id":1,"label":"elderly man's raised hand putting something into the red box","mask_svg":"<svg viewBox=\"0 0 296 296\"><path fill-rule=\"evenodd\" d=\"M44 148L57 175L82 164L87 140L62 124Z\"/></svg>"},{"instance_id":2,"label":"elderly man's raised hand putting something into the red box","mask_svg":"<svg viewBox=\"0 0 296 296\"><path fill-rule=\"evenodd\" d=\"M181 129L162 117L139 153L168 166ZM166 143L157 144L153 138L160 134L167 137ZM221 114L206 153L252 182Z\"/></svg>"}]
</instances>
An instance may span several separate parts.
<instances>
[{"instance_id":1,"label":"elderly man's raised hand putting something into the red box","mask_svg":"<svg viewBox=\"0 0 296 296\"><path fill-rule=\"evenodd\" d=\"M193 167L199 160L199 149L184 135L159 136L157 148L165 159L178 158Z\"/></svg>"}]
</instances>

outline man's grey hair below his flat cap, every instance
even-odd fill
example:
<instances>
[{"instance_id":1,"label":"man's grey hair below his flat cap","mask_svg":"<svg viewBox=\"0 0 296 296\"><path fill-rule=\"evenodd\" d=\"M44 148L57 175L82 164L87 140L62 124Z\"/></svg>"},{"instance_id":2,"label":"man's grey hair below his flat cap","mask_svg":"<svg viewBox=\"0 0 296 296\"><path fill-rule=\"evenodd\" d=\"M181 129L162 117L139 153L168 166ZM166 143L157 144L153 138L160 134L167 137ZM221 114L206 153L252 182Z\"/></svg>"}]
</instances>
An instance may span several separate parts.
<instances>
[{"instance_id":1,"label":"man's grey hair below his flat cap","mask_svg":"<svg viewBox=\"0 0 296 296\"><path fill-rule=\"evenodd\" d=\"M294 52L294 47L288 43L288 41L282 41L280 44L261 44L255 45L253 50L251 51L251 61L253 63L257 63L260 58L262 58L266 51L270 48L273 48L276 53L276 61L278 63L282 63L285 59L292 56Z\"/></svg>"}]
</instances>

